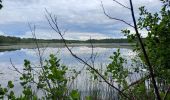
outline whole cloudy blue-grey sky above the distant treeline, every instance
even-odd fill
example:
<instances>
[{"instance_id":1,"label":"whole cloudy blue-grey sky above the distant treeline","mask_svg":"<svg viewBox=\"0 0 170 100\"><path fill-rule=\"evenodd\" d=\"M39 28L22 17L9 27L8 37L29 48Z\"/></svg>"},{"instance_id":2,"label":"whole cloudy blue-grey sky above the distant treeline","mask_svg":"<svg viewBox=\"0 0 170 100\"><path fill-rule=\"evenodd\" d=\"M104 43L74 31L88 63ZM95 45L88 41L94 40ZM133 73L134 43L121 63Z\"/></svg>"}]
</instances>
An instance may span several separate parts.
<instances>
[{"instance_id":1,"label":"whole cloudy blue-grey sky above the distant treeline","mask_svg":"<svg viewBox=\"0 0 170 100\"><path fill-rule=\"evenodd\" d=\"M130 29L122 22L110 20L103 13L132 23L131 13L113 0L2 0L0 10L0 35L32 38L29 24L36 26L36 37L42 39L60 39L48 24L45 9L57 16L66 39L87 40L104 38L125 38L122 29ZM129 7L129 0L118 0ZM146 6L150 12L159 11L159 0L133 0L135 15L138 8ZM142 32L141 32L142 33ZM143 36L145 32L142 33Z\"/></svg>"}]
</instances>

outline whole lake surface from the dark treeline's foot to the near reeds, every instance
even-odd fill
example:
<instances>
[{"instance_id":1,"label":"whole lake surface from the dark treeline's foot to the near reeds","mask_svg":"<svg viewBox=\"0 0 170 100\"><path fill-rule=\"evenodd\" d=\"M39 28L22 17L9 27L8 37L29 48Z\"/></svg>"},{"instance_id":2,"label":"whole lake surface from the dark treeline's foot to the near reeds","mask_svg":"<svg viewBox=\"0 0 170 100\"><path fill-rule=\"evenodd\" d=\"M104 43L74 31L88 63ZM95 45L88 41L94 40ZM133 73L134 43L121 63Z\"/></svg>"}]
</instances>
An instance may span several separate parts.
<instances>
[{"instance_id":1,"label":"whole lake surface from the dark treeline's foot to the near reeds","mask_svg":"<svg viewBox=\"0 0 170 100\"><path fill-rule=\"evenodd\" d=\"M6 86L8 80L12 80L14 81L15 89L20 88L19 74L16 71L13 71L14 69L10 63L10 59L12 60L12 63L16 66L16 68L18 68L19 70L22 70L23 68L24 59L31 61L31 64L33 65L39 64L38 50L34 46L30 45L23 46L12 45L11 47L10 46L1 47L3 49L1 49L0 52L0 80L1 80L0 84L2 84L3 86L4 85ZM90 44L85 45L77 44L70 46L70 48L76 55L78 55L84 60L89 59L92 53L92 48ZM109 57L113 54L113 52L117 51L118 48L120 48L121 55L127 60L130 60L136 56L136 53L132 51L132 47L130 47L129 45L95 44L93 48L94 54L97 55L95 59L95 67L105 69L106 65L108 65L111 62ZM64 46L57 45L56 46L50 45L48 47L42 46L40 47L40 50L41 53L43 53L43 59L48 59L50 54L54 54L61 59L61 64L67 65L70 69L82 71L82 73L77 77L77 79L73 82L72 85L72 88L76 88L81 91L81 95L83 96L89 94L94 95L94 93L97 94L101 92L102 95L100 95L99 98L106 99L106 97L109 98L116 97L116 95L113 95L113 92L115 91L112 91L112 89L110 89L105 83L91 81L92 78L88 74L88 71L86 70L87 66L84 67L84 64L77 61L77 59L75 59ZM130 61L128 62L130 63ZM88 63L91 64L90 61Z\"/></svg>"}]
</instances>

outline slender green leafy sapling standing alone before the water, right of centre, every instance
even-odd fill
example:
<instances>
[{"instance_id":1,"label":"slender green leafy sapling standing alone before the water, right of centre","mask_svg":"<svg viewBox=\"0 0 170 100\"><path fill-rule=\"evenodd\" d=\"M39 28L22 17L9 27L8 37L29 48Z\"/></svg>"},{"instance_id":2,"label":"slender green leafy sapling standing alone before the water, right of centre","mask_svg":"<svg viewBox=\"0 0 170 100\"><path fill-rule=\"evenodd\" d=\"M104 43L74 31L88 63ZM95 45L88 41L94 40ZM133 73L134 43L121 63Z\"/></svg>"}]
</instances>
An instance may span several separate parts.
<instances>
[{"instance_id":1,"label":"slender green leafy sapling standing alone before the water, right of centre","mask_svg":"<svg viewBox=\"0 0 170 100\"><path fill-rule=\"evenodd\" d=\"M111 79L123 87L127 86L128 70L124 66L126 60L121 57L120 49L114 52L110 59L112 62L107 66L105 76L111 76Z\"/></svg>"}]
</instances>

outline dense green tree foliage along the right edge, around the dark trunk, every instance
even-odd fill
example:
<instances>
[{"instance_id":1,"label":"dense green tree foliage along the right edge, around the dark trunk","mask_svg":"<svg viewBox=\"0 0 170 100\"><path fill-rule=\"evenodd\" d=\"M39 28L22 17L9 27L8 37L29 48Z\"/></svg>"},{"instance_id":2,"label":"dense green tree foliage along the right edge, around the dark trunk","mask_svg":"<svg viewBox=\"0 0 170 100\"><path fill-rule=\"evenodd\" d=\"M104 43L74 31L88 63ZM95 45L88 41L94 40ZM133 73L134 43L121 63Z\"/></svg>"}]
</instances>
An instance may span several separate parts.
<instances>
[{"instance_id":1,"label":"dense green tree foliage along the right edge, around the dark trunk","mask_svg":"<svg viewBox=\"0 0 170 100\"><path fill-rule=\"evenodd\" d=\"M144 6L139 8L138 29L147 31L147 36L143 43L154 69L158 88L163 97L166 91L165 87L170 83L170 10L168 1L161 1L163 1L163 7L159 13L152 14ZM131 33L129 30L123 30L122 32L125 33L129 40L136 41L134 33ZM145 63L144 55L140 51L138 43L136 43L134 51L139 53L139 57ZM148 69L148 67L145 68ZM140 92L140 94L145 94L144 87L145 85L140 84L133 89ZM138 95L138 92L135 92L135 94ZM153 86L150 86L147 92L146 96L153 95ZM149 98L154 99L153 96Z\"/></svg>"}]
</instances>

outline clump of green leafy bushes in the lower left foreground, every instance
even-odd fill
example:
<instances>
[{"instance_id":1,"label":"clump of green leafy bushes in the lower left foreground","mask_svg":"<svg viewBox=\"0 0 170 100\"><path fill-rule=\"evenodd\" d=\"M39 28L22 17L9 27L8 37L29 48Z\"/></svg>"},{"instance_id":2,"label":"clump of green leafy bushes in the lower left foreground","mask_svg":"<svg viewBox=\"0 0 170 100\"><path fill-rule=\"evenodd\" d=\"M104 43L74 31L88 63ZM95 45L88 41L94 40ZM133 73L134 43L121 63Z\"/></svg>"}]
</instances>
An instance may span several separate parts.
<instances>
[{"instance_id":1,"label":"clump of green leafy bushes in the lower left foreground","mask_svg":"<svg viewBox=\"0 0 170 100\"><path fill-rule=\"evenodd\" d=\"M22 94L17 97L12 89L14 84L8 82L7 88L0 86L0 98L11 100L79 100L78 90L69 90L67 88L69 78L66 76L68 68L60 65L60 59L50 55L50 59L45 61L44 66L38 69L31 66L31 62L24 60L23 73L20 77L20 83L23 87ZM35 91L41 90L44 95L39 96Z\"/></svg>"}]
</instances>

